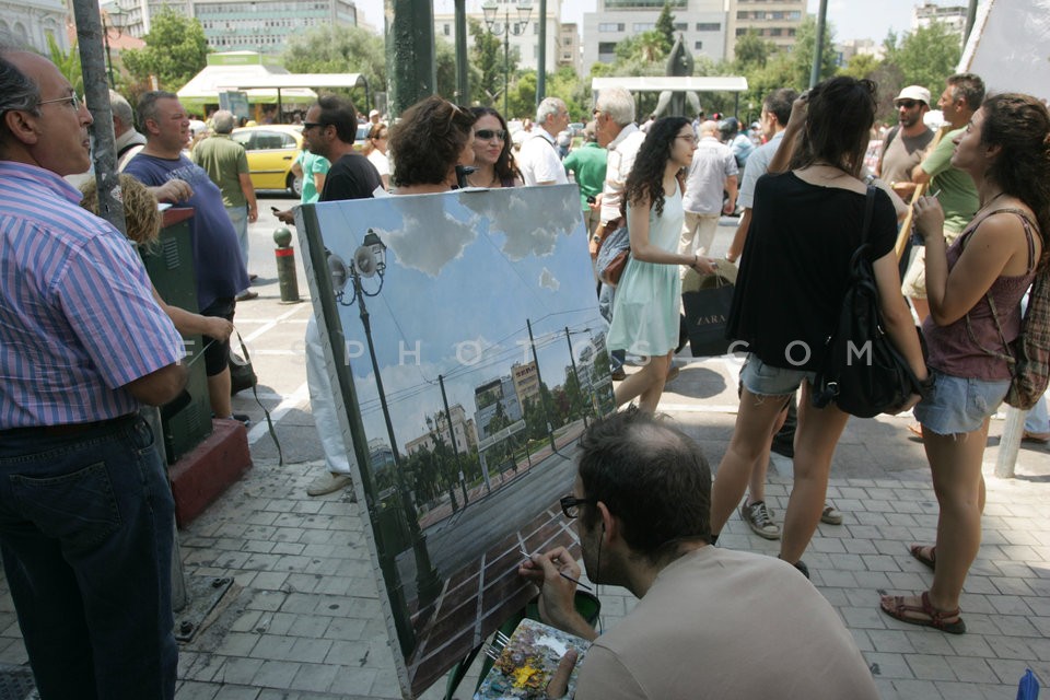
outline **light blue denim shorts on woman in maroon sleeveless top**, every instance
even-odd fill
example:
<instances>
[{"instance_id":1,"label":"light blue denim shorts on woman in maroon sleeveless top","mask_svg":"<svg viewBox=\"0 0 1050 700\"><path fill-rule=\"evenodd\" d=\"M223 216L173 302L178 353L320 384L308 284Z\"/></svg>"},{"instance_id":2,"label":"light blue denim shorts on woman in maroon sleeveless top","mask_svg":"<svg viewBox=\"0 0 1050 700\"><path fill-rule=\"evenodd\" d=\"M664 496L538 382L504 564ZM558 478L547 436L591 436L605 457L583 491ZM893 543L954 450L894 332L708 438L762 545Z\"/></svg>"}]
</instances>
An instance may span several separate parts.
<instances>
[{"instance_id":1,"label":"light blue denim shorts on woman in maroon sleeveless top","mask_svg":"<svg viewBox=\"0 0 1050 700\"><path fill-rule=\"evenodd\" d=\"M933 390L914 408L923 430L938 435L973 432L1003 402L1010 380L966 380L933 371Z\"/></svg>"}]
</instances>

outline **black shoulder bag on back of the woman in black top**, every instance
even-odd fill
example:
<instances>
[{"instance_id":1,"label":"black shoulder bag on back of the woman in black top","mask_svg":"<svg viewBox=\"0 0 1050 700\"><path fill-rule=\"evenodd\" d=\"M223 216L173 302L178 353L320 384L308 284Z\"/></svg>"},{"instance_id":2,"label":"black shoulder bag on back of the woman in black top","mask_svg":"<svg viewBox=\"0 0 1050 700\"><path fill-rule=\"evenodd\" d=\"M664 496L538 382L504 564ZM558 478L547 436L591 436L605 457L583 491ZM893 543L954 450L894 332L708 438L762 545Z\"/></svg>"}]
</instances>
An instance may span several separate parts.
<instances>
[{"instance_id":1,"label":"black shoulder bag on back of the woman in black top","mask_svg":"<svg viewBox=\"0 0 1050 700\"><path fill-rule=\"evenodd\" d=\"M859 418L894 412L925 386L911 371L892 340L883 330L878 288L867 252L868 229L875 208L875 188L867 187L861 245L850 259L850 284L842 299L838 325L828 337L816 372L812 402L824 408L833 402Z\"/></svg>"}]
</instances>

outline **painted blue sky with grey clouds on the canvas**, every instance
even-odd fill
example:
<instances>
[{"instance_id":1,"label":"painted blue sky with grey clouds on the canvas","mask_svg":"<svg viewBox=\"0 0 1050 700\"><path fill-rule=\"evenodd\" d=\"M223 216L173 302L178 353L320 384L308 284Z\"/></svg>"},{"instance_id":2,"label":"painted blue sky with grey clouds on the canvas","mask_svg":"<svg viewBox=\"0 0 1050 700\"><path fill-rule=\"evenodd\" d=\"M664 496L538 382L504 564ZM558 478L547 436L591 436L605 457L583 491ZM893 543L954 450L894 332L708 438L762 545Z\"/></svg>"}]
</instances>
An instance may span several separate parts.
<instances>
[{"instance_id":1,"label":"painted blue sky with grey clouds on the canvas","mask_svg":"<svg viewBox=\"0 0 1050 700\"><path fill-rule=\"evenodd\" d=\"M399 447L442 408L474 416L474 388L527 363L526 318L540 373L553 387L590 332L605 331L575 186L463 191L317 207L325 245L351 260L371 228L386 243L387 271L368 298L372 334ZM365 223L366 222L366 223ZM375 290L377 279L363 280ZM340 307L365 432L386 438L358 307Z\"/></svg>"}]
</instances>

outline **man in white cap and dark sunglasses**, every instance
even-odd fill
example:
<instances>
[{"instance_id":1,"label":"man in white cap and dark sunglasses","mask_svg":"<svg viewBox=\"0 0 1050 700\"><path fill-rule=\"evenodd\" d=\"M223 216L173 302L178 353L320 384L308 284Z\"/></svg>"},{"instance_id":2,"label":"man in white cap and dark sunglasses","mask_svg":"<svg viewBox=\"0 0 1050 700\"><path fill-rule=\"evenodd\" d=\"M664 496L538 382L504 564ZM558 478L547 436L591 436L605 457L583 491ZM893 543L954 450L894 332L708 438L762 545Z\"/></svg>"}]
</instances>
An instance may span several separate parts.
<instances>
[{"instance_id":1,"label":"man in white cap and dark sunglasses","mask_svg":"<svg viewBox=\"0 0 1050 700\"><path fill-rule=\"evenodd\" d=\"M897 107L896 127L883 140L875 175L889 183L901 199L908 201L915 191L911 173L922 162L934 131L923 117L930 112L930 91L919 85L908 85L894 100Z\"/></svg>"}]
</instances>

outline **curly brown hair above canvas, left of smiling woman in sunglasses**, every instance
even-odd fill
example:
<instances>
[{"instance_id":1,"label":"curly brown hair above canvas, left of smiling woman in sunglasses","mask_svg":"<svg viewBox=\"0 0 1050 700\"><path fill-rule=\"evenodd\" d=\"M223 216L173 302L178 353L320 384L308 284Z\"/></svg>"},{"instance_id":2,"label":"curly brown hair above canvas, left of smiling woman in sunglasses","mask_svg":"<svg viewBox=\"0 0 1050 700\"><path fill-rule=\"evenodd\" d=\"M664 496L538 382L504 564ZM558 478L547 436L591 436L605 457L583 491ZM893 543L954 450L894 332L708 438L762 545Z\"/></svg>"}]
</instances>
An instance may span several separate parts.
<instances>
[{"instance_id":1,"label":"curly brown hair above canvas, left of smiling woman in sunglasses","mask_svg":"<svg viewBox=\"0 0 1050 700\"><path fill-rule=\"evenodd\" d=\"M387 148L396 186L439 185L456 166L474 138L474 114L444 97L431 95L409 107L390 128Z\"/></svg>"}]
</instances>

